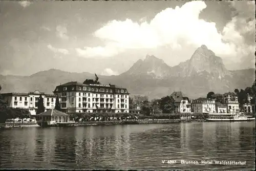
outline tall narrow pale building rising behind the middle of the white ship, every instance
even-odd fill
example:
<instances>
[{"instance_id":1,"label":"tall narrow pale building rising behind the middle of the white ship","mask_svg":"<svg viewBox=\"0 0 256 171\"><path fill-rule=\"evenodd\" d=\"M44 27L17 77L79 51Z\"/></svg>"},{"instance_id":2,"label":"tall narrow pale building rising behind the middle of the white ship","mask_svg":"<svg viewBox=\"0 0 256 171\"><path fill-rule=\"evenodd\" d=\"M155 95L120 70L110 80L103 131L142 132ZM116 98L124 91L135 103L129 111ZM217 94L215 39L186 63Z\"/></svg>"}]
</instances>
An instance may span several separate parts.
<instances>
[{"instance_id":1,"label":"tall narrow pale building rising behind the middle of the white ship","mask_svg":"<svg viewBox=\"0 0 256 171\"><path fill-rule=\"evenodd\" d=\"M237 113L239 112L239 102L238 95L236 93L224 93L223 94L224 104L227 106L228 113Z\"/></svg>"}]
</instances>

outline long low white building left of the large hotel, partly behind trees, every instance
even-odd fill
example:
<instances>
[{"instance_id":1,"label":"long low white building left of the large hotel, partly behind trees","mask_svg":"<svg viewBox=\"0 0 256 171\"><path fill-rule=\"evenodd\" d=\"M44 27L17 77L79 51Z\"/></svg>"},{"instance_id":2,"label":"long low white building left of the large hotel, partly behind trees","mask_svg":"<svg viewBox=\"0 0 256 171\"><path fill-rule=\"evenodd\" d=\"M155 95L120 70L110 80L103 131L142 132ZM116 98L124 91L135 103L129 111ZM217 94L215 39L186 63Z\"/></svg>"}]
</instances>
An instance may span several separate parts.
<instances>
[{"instance_id":1,"label":"long low white building left of the large hotel, partly behind trees","mask_svg":"<svg viewBox=\"0 0 256 171\"><path fill-rule=\"evenodd\" d=\"M2 93L4 100L8 102L10 108L29 109L30 115L36 115L37 102L39 96L44 99L45 110L55 107L56 96L53 94L45 94L38 90L29 93Z\"/></svg>"}]
</instances>

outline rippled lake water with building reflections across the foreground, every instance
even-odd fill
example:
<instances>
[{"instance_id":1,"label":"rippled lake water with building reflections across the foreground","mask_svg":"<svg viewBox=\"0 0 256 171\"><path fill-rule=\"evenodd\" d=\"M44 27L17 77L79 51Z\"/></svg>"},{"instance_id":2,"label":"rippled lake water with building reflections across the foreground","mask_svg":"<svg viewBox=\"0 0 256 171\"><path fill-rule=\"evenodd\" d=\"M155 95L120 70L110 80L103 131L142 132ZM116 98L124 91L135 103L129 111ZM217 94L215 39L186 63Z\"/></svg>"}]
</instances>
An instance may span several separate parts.
<instances>
[{"instance_id":1,"label":"rippled lake water with building reflections across the foreground","mask_svg":"<svg viewBox=\"0 0 256 171\"><path fill-rule=\"evenodd\" d=\"M213 163L202 164L202 160ZM251 170L255 168L254 160L255 122L0 131L1 168ZM215 161L241 163L220 165Z\"/></svg>"}]
</instances>

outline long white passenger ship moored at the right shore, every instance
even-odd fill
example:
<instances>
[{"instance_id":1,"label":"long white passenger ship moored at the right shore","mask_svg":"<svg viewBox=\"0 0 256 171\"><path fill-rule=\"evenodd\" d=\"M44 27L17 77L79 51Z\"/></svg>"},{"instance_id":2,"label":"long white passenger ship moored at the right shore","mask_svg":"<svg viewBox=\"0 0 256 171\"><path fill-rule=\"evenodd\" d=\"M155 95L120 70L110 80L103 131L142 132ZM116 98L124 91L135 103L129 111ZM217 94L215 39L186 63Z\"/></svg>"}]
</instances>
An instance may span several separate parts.
<instances>
[{"instance_id":1,"label":"long white passenger ship moored at the right shore","mask_svg":"<svg viewBox=\"0 0 256 171\"><path fill-rule=\"evenodd\" d=\"M236 122L236 121L254 121L255 117L246 116L244 113L209 113L208 122Z\"/></svg>"}]
</instances>

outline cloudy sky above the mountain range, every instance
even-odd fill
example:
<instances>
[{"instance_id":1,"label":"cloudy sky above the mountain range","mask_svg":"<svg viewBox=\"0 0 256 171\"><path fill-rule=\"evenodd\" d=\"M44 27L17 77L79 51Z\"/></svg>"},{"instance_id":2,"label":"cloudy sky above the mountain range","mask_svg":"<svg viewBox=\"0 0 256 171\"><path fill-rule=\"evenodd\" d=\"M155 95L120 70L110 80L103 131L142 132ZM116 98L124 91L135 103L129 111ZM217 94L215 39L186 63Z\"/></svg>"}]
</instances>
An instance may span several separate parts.
<instances>
[{"instance_id":1,"label":"cloudy sky above the mountain range","mask_svg":"<svg viewBox=\"0 0 256 171\"><path fill-rule=\"evenodd\" d=\"M118 75L147 54L176 66L201 45L254 68L254 1L0 1L0 74Z\"/></svg>"}]
</instances>

